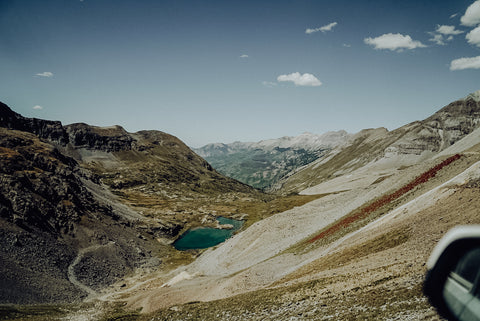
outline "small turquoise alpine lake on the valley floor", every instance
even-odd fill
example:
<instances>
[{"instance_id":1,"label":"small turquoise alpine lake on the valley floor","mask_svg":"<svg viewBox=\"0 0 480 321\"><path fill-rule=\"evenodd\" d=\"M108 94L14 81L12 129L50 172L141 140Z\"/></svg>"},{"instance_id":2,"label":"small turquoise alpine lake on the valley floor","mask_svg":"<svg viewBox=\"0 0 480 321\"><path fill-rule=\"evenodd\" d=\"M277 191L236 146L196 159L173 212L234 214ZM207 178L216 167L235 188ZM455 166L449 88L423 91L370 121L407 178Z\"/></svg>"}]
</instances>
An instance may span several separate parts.
<instances>
[{"instance_id":1,"label":"small turquoise alpine lake on the valley floor","mask_svg":"<svg viewBox=\"0 0 480 321\"><path fill-rule=\"evenodd\" d=\"M243 221L232 220L222 216L217 217L217 221L221 225L231 224L233 228L218 229L212 227L199 227L188 230L173 243L173 246L180 251L206 249L224 242L243 225Z\"/></svg>"}]
</instances>

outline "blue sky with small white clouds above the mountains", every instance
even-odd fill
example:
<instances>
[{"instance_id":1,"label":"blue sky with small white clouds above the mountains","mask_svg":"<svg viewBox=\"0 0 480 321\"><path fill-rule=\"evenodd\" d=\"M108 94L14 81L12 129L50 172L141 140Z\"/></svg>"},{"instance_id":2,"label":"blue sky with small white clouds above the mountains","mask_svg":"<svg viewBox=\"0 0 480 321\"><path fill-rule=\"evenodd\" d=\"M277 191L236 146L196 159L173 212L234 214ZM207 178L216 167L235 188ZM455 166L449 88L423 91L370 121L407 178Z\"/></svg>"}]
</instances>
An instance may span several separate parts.
<instances>
[{"instance_id":1,"label":"blue sky with small white clouds above the mountains","mask_svg":"<svg viewBox=\"0 0 480 321\"><path fill-rule=\"evenodd\" d=\"M0 0L0 101L188 145L387 127L480 89L480 0Z\"/></svg>"}]
</instances>

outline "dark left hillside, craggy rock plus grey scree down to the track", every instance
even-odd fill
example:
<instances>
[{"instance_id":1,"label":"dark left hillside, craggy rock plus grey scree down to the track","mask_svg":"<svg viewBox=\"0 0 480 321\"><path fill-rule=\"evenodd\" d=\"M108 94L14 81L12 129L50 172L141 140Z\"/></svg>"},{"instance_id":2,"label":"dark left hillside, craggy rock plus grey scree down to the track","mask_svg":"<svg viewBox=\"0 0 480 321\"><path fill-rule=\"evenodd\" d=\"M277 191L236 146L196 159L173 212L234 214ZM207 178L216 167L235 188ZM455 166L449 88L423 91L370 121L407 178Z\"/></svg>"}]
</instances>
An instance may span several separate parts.
<instances>
[{"instance_id":1,"label":"dark left hillside, craggy rock plus grey scree down to the track","mask_svg":"<svg viewBox=\"0 0 480 321\"><path fill-rule=\"evenodd\" d=\"M130 221L97 200L85 181L95 185L95 176L55 146L0 128L0 302L84 297L67 271L79 251L91 246L115 242L103 249L108 254L92 252L93 261L77 264L97 272L84 280L97 289L152 259L153 238L139 239Z\"/></svg>"}]
</instances>

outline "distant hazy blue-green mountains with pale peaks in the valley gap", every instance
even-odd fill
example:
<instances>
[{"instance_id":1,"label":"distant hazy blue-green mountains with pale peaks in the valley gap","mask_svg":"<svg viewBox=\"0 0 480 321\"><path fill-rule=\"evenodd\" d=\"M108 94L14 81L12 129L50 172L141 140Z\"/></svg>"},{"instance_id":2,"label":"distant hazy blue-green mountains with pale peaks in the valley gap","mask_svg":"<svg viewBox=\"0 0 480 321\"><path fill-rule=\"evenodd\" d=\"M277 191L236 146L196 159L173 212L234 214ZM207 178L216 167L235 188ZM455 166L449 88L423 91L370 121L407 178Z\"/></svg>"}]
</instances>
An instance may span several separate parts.
<instances>
[{"instance_id":1,"label":"distant hazy blue-green mountains with pale peaks in the valley gap","mask_svg":"<svg viewBox=\"0 0 480 321\"><path fill-rule=\"evenodd\" d=\"M268 190L284 176L342 145L348 137L346 131L304 133L255 143L214 143L193 150L220 173Z\"/></svg>"}]
</instances>

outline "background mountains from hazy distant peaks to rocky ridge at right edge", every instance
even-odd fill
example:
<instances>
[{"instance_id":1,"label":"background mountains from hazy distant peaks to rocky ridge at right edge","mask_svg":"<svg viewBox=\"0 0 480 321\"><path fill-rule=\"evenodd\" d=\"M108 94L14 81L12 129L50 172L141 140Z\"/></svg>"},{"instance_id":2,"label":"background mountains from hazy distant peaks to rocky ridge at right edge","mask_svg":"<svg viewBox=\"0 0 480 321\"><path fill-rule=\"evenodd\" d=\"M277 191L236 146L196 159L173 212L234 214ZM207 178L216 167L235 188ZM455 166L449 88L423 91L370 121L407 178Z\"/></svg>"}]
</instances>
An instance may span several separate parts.
<instances>
[{"instance_id":1,"label":"background mountains from hazy distant peaks to rocky ridge at right edge","mask_svg":"<svg viewBox=\"0 0 480 321\"><path fill-rule=\"evenodd\" d=\"M423 121L393 131L304 133L255 143L213 143L193 150L228 177L268 192L295 193L341 174L337 170L347 164L350 171L380 158L404 158L408 166L407 158L415 163L447 148L476 128L479 95L472 93ZM359 152L362 159L356 159L356 165L349 163Z\"/></svg>"}]
</instances>

